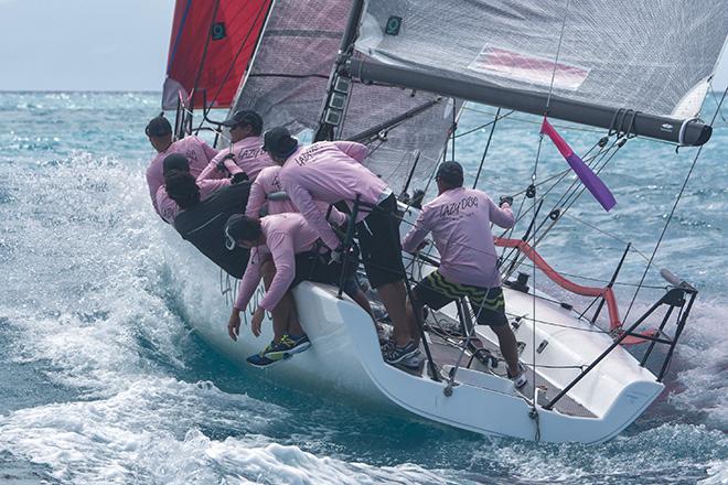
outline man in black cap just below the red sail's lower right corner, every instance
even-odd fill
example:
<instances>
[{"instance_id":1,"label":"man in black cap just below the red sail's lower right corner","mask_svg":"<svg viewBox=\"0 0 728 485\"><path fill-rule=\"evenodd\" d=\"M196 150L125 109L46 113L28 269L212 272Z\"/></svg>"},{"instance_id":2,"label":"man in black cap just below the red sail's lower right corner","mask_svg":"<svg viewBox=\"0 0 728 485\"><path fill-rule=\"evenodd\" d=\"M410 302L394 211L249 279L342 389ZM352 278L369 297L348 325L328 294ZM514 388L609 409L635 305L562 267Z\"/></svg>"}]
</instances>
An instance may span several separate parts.
<instances>
[{"instance_id":1,"label":"man in black cap just below the red sail's lower right corner","mask_svg":"<svg viewBox=\"0 0 728 485\"><path fill-rule=\"evenodd\" d=\"M201 179L224 179L228 176L226 160L232 160L253 182L258 173L274 163L263 151L263 118L255 111L235 111L222 122L231 130L231 147L220 151L200 174Z\"/></svg>"}]
</instances>

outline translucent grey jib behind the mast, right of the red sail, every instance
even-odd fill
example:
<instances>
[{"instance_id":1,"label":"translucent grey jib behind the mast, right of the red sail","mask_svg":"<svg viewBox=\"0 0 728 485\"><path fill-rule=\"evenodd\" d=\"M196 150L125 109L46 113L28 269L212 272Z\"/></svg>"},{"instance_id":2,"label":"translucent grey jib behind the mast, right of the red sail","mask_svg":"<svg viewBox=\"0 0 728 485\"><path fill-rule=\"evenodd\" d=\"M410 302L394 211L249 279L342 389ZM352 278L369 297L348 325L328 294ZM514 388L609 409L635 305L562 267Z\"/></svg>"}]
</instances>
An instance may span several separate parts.
<instances>
[{"instance_id":1,"label":"translucent grey jib behind the mast, right of the red sail","mask_svg":"<svg viewBox=\"0 0 728 485\"><path fill-rule=\"evenodd\" d=\"M255 109L267 128L286 125L293 132L315 130L352 4L342 0L277 0L235 109ZM428 93L354 84L336 138L350 139L436 99ZM452 123L451 105L447 99L436 103L392 129L387 141L371 142L367 166L399 191L419 150L413 184L424 182L442 152Z\"/></svg>"}]
</instances>

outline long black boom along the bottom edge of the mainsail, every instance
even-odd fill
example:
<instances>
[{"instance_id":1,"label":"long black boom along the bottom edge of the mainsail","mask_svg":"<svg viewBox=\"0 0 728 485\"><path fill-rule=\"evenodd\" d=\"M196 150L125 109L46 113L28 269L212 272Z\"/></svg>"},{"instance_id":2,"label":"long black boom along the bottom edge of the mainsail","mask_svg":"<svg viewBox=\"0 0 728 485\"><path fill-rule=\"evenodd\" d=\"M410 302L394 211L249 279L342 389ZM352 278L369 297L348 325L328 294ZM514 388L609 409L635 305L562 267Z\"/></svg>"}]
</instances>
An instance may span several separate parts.
<instances>
[{"instance_id":1,"label":"long black boom along the bottom edge of the mainsail","mask_svg":"<svg viewBox=\"0 0 728 485\"><path fill-rule=\"evenodd\" d=\"M363 83L384 83L421 89L442 96L464 98L505 109L544 115L546 94L507 89L482 80L449 78L433 73L413 71L393 65L351 60L350 74ZM696 119L676 120L624 108L563 99L552 96L548 116L566 121L606 128L620 133L642 136L681 143L702 146L710 138L713 128Z\"/></svg>"}]
</instances>

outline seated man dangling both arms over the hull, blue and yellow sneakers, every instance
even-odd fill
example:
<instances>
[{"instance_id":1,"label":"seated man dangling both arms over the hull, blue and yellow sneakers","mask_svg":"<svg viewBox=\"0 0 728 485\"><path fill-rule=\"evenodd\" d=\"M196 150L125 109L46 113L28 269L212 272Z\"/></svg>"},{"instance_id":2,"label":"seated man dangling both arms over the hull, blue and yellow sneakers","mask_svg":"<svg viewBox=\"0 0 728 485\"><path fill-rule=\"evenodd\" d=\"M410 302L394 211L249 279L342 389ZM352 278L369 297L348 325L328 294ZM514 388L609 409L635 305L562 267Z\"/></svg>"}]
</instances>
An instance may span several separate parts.
<instances>
[{"instance_id":1,"label":"seated man dangling both arms over the hull, blue and yellow sneakers","mask_svg":"<svg viewBox=\"0 0 728 485\"><path fill-rule=\"evenodd\" d=\"M260 354L248 357L248 363L265 366L306 351L311 343L296 317L289 290L304 280L336 284L341 265L329 263L329 251L319 242L319 235L298 213L270 215L261 219L235 214L227 220L225 238L228 249L235 245L253 248L227 324L231 338L237 340L240 312L247 308L264 272L270 270L272 262L275 276L258 308L272 313L274 340ZM345 278L344 291L354 298L357 290L352 269Z\"/></svg>"}]
</instances>

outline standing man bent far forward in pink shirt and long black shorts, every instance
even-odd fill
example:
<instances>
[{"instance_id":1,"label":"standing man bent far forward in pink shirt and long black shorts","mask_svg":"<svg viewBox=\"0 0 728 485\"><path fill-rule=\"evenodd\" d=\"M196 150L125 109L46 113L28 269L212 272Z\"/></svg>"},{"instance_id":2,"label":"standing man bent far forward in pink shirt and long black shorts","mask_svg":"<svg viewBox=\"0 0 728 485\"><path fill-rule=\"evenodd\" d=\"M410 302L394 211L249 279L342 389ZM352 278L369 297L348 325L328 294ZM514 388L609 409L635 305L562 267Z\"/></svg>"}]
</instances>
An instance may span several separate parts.
<instances>
[{"instance_id":1,"label":"standing man bent far forward in pink shirt and long black shorts","mask_svg":"<svg viewBox=\"0 0 728 485\"><path fill-rule=\"evenodd\" d=\"M417 345L407 326L405 311L405 271L394 214L397 201L387 184L362 165L366 147L347 141L320 141L300 147L286 128L279 127L266 133L264 150L283 168L280 172L283 190L334 255L341 252L342 242L317 201L345 202L350 209L354 201L360 202L355 223L362 261L372 288L377 290L394 324L396 345L385 359L397 363L415 355Z\"/></svg>"}]
</instances>

